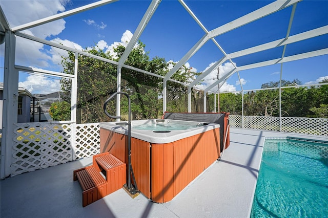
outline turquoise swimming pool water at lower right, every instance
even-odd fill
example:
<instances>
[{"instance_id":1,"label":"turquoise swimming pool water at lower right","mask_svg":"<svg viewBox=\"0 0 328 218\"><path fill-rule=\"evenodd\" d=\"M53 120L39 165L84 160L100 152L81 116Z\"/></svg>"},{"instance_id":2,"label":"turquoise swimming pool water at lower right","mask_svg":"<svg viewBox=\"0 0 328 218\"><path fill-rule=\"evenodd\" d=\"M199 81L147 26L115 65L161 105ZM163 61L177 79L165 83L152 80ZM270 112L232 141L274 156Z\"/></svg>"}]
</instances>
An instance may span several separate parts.
<instances>
[{"instance_id":1,"label":"turquoise swimming pool water at lower right","mask_svg":"<svg viewBox=\"0 0 328 218\"><path fill-rule=\"evenodd\" d=\"M328 217L328 142L265 140L251 217Z\"/></svg>"}]
</instances>

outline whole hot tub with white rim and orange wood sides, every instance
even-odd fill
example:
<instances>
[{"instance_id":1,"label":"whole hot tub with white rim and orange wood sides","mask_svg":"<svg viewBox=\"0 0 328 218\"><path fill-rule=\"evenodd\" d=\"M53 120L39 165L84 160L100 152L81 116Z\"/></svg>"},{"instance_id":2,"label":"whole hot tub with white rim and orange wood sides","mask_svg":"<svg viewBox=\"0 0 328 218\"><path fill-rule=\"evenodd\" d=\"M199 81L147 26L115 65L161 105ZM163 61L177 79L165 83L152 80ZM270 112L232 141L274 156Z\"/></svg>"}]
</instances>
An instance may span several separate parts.
<instances>
[{"instance_id":1,"label":"whole hot tub with white rim and orange wood sides","mask_svg":"<svg viewBox=\"0 0 328 218\"><path fill-rule=\"evenodd\" d=\"M128 164L126 123L99 125L100 152L109 151ZM157 203L171 201L220 156L219 127L168 119L132 121L131 162L140 192Z\"/></svg>"}]
</instances>

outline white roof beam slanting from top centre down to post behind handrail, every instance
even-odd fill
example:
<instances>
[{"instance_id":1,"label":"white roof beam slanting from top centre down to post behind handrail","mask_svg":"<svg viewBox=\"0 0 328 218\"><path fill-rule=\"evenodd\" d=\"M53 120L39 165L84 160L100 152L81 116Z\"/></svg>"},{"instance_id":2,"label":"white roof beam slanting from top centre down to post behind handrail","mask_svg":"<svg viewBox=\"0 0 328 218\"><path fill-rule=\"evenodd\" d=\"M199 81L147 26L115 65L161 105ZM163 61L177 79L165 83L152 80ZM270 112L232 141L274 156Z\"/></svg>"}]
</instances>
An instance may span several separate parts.
<instances>
[{"instance_id":1,"label":"white roof beam slanting from top centre down to post behind handrail","mask_svg":"<svg viewBox=\"0 0 328 218\"><path fill-rule=\"evenodd\" d=\"M132 36L130 42L128 43L127 48L125 49L124 53L120 57L117 68L121 68L122 65L124 64L124 62L127 60L130 52L132 51L133 47L137 43L141 33L145 30L146 26L148 25L150 18L155 13L160 2L161 2L161 0L153 0L151 2L151 4L149 5L144 17L142 17L142 19L139 23L136 31L133 33L133 36Z\"/></svg>"}]
</instances>

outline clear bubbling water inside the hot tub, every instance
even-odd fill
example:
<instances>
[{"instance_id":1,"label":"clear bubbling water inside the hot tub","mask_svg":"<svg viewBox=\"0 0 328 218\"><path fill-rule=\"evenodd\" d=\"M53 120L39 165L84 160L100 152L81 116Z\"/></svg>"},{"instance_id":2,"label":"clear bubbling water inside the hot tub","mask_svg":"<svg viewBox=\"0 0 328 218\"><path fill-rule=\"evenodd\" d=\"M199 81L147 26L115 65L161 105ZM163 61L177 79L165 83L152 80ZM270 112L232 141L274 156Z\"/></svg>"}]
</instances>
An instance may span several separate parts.
<instances>
[{"instance_id":1,"label":"clear bubbling water inside the hot tub","mask_svg":"<svg viewBox=\"0 0 328 218\"><path fill-rule=\"evenodd\" d=\"M183 130L195 128L198 126L202 126L201 123L196 125L188 125L188 124L180 124L180 123L148 123L137 126L132 126L134 129L142 129L142 130L153 130L153 131L170 131L170 130Z\"/></svg>"}]
</instances>

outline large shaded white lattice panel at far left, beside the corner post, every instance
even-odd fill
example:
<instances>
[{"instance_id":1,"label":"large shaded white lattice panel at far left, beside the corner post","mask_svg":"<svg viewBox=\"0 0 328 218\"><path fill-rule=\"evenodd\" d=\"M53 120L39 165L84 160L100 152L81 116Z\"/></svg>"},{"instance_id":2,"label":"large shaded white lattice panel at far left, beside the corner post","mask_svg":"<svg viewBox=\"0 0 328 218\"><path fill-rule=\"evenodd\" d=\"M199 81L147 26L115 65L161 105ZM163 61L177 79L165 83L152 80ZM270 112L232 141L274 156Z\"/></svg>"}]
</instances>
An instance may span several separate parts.
<instances>
[{"instance_id":1,"label":"large shaded white lattice panel at far left, beside the corner post","mask_svg":"<svg viewBox=\"0 0 328 218\"><path fill-rule=\"evenodd\" d=\"M16 123L11 175L72 161L70 123Z\"/></svg>"}]
</instances>

